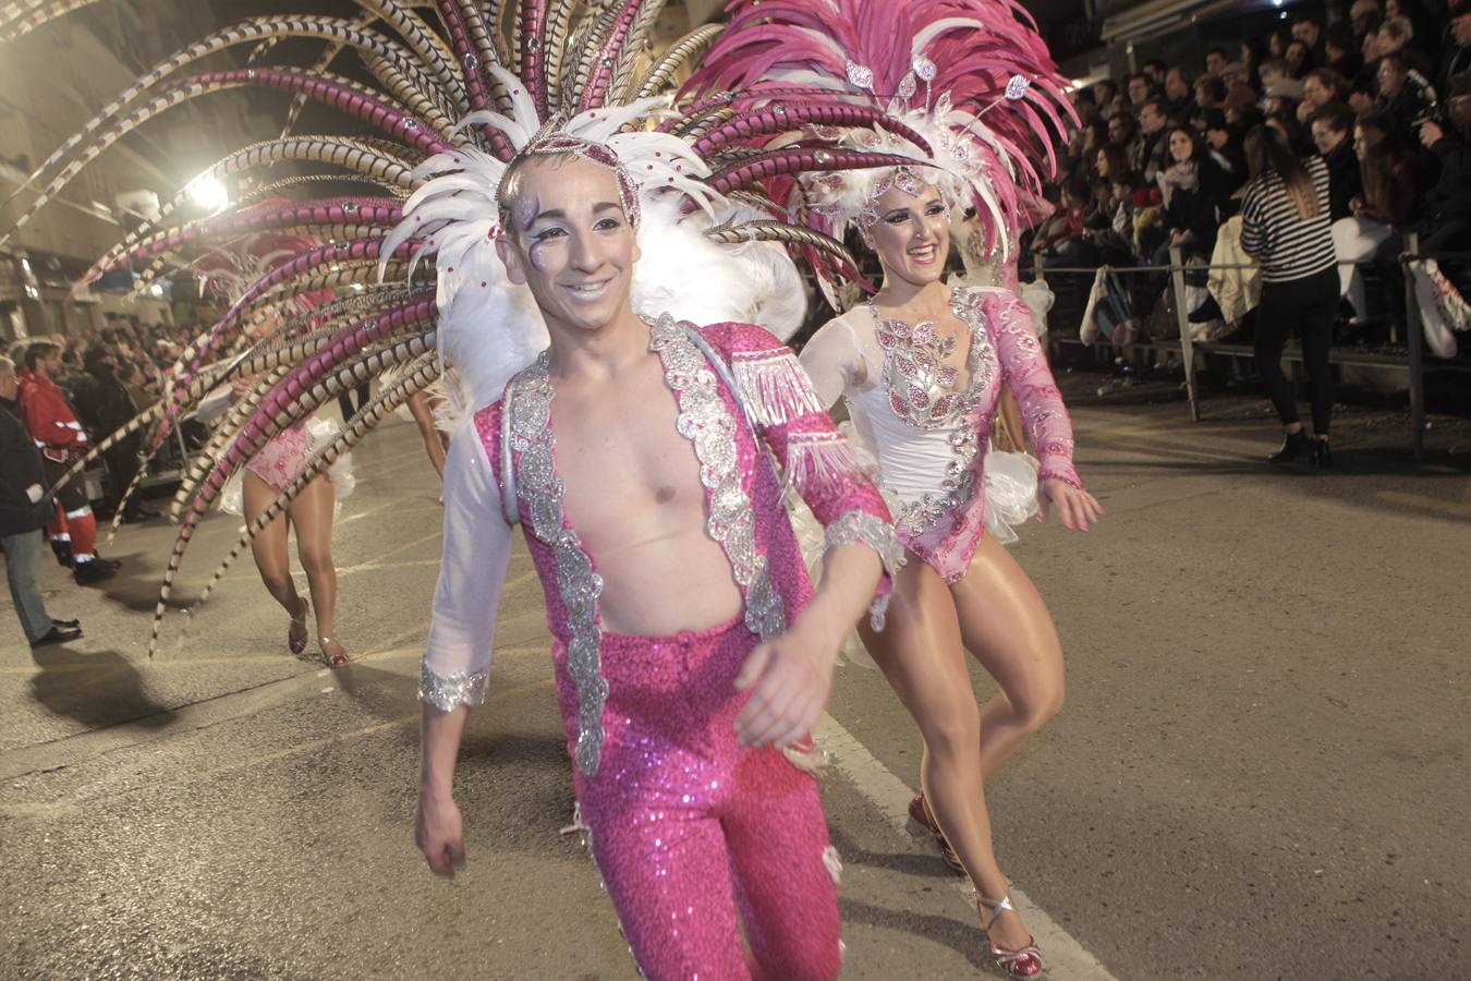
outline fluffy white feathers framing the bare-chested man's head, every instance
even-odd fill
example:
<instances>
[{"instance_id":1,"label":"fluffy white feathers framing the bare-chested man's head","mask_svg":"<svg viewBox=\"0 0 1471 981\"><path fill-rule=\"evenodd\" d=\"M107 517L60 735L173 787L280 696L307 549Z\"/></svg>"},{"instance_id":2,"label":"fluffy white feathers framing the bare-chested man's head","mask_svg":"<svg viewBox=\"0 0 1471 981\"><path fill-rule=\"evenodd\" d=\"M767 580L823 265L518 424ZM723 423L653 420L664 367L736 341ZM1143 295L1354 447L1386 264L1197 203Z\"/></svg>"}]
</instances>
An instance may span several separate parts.
<instances>
[{"instance_id":1,"label":"fluffy white feathers framing the bare-chested man's head","mask_svg":"<svg viewBox=\"0 0 1471 981\"><path fill-rule=\"evenodd\" d=\"M510 112L465 116L459 126L499 129L518 151L538 132L535 104L521 81L499 66L490 71L510 93ZM705 237L724 199L697 178L709 168L680 137L630 124L668 113L660 99L588 110L568 121L565 132L608 146L638 187L643 257L634 274L634 309L647 316L672 313L696 324L744 321L786 338L802 325L806 297L802 277L780 246L718 246ZM431 178L405 203L403 221L387 235L382 269L394 250L418 241L409 277L432 256L438 274L438 352L450 419L468 421L500 399L506 382L549 344L535 299L515 285L496 254L506 165L475 147L437 153L415 168ZM685 201L702 210L685 215Z\"/></svg>"}]
</instances>

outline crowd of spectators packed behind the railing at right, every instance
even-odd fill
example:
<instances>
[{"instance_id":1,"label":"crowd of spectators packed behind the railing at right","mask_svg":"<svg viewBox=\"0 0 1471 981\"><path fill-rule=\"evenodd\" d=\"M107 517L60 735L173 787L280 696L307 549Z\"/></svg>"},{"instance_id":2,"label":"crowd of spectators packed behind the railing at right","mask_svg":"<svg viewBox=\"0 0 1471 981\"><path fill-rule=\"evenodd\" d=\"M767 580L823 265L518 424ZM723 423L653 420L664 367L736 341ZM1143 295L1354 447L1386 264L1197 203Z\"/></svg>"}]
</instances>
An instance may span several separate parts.
<instances>
[{"instance_id":1,"label":"crowd of spectators packed behind the railing at right","mask_svg":"<svg viewBox=\"0 0 1471 981\"><path fill-rule=\"evenodd\" d=\"M1033 238L1041 262L1165 265L1171 246L1209 260L1240 207L1253 126L1322 156L1337 259L1377 263L1389 290L1403 290L1406 232L1422 253L1471 250L1471 0L1353 0L1330 15L1077 93L1081 124ZM1367 321L1362 279L1340 275L1343 319ZM1387 309L1403 315L1395 297Z\"/></svg>"}]
</instances>

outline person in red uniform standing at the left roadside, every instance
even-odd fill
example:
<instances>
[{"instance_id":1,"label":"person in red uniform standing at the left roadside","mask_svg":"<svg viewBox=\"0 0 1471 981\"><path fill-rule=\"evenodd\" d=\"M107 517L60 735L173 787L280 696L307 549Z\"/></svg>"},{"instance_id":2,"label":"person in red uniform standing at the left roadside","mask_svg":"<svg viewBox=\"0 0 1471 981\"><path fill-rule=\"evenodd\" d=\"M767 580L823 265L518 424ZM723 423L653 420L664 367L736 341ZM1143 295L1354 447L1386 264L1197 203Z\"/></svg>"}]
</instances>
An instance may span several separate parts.
<instances>
[{"instance_id":1,"label":"person in red uniform standing at the left roadside","mask_svg":"<svg viewBox=\"0 0 1471 981\"><path fill-rule=\"evenodd\" d=\"M53 377L62 366L62 349L35 341L25 349L21 375L21 418L46 460L46 478L59 479L87 452L87 431ZM97 519L87 499L87 485L74 477L56 491L56 519L47 525L51 549L62 565L74 566L78 585L109 578L116 562L97 557Z\"/></svg>"}]
</instances>

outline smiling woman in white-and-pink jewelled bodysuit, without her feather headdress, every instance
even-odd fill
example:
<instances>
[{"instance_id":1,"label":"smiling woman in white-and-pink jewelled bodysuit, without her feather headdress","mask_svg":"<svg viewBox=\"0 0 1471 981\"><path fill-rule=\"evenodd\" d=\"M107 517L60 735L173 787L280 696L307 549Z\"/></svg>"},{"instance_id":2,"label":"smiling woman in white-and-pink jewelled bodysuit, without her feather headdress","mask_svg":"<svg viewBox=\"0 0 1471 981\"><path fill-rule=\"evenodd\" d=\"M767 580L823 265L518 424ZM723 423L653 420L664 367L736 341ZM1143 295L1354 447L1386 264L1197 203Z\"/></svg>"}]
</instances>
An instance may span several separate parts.
<instances>
[{"instance_id":1,"label":"smiling woman in white-and-pink jewelled bodysuit, without her feather headdress","mask_svg":"<svg viewBox=\"0 0 1471 981\"><path fill-rule=\"evenodd\" d=\"M900 502L896 527L912 560L894 582L887 628L865 629L863 643L924 740L925 793L911 812L943 832L993 910L986 930L997 960L1027 977L1041 956L1006 899L983 787L1062 706L1062 649L1036 587L986 534L978 447L1003 382L1041 460L1043 507L1083 531L1102 507L1072 469L1068 416L1025 306L1002 288L946 285L950 212L940 191L903 168L886 184L874 221L861 225L883 288L819 329L802 363L824 404L846 400L880 485ZM966 650L1002 688L984 709Z\"/></svg>"}]
</instances>

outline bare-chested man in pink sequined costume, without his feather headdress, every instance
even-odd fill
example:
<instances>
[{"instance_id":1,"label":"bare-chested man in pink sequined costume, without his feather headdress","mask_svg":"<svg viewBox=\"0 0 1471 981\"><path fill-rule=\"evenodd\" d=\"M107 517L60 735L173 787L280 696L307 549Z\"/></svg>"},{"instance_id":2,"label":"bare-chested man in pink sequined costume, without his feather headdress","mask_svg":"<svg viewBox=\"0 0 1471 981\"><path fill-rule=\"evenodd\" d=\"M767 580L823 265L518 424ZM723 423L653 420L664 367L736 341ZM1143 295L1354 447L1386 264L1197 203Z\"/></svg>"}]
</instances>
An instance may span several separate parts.
<instances>
[{"instance_id":1,"label":"bare-chested man in pink sequined costume, without his feather headdress","mask_svg":"<svg viewBox=\"0 0 1471 981\"><path fill-rule=\"evenodd\" d=\"M519 522L546 593L580 818L640 969L830 978L836 856L816 782L793 760L899 550L781 341L634 313L637 196L600 150L555 138L502 182L497 252L550 347L446 462L419 847L437 874L463 866L455 756L466 706L485 694ZM815 591L784 479L827 527Z\"/></svg>"}]
</instances>

